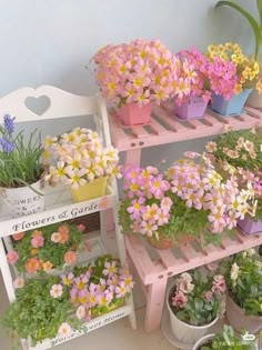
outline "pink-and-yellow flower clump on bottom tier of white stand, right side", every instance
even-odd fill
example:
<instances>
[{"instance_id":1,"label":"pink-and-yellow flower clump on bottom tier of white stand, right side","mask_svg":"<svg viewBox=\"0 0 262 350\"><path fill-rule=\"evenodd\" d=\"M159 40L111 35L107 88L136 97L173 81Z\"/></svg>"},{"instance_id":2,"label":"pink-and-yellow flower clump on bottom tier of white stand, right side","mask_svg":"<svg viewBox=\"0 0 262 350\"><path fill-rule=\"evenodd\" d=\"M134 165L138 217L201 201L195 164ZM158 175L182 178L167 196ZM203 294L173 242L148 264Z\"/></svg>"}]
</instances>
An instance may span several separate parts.
<instances>
[{"instance_id":1,"label":"pink-and-yellow flower clump on bottom tier of white stand, right side","mask_svg":"<svg viewBox=\"0 0 262 350\"><path fill-rule=\"evenodd\" d=\"M77 319L89 321L123 306L134 282L119 260L103 256L87 267L75 268L73 273L64 274L62 284L69 286Z\"/></svg>"}]
</instances>

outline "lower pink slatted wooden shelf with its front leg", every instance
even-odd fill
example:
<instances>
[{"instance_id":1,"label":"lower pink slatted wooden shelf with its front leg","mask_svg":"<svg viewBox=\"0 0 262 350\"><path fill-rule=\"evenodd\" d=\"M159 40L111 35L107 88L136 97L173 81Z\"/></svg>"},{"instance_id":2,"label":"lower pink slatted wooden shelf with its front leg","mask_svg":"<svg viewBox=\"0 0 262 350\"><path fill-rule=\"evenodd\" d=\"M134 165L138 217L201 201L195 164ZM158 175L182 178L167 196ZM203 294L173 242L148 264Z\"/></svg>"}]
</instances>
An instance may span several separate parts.
<instances>
[{"instance_id":1,"label":"lower pink slatted wooden shelf with its front leg","mask_svg":"<svg viewBox=\"0 0 262 350\"><path fill-rule=\"evenodd\" d=\"M172 250L159 250L149 247L139 236L127 234L129 261L135 268L147 298L145 330L150 332L160 327L169 277L259 244L262 244L262 233L248 237L235 230L233 237L223 239L218 247L206 246L205 251L202 251L196 242Z\"/></svg>"}]
</instances>

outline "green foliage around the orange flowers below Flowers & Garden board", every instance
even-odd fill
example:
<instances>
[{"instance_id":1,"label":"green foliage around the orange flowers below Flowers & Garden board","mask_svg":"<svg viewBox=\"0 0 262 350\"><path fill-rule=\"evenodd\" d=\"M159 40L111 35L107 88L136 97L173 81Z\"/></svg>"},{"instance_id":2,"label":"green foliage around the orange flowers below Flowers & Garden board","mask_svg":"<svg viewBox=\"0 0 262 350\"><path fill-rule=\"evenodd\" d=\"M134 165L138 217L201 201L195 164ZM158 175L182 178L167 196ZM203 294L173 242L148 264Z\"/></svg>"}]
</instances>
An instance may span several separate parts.
<instances>
[{"instance_id":1,"label":"green foliage around the orange flowers below Flowers & Garden board","mask_svg":"<svg viewBox=\"0 0 262 350\"><path fill-rule=\"evenodd\" d=\"M58 232L60 227L68 228L68 240L64 243L53 242L52 233ZM26 232L24 237L14 246L19 254L16 268L19 272L27 272L26 263L30 258L37 258L42 263L51 262L53 269L61 270L64 266L64 254L68 251L78 251L83 242L83 234L75 224L53 223L41 228L41 236L44 239L43 246L33 249L31 244L32 234L36 230ZM44 271L41 270L41 273Z\"/></svg>"}]
</instances>

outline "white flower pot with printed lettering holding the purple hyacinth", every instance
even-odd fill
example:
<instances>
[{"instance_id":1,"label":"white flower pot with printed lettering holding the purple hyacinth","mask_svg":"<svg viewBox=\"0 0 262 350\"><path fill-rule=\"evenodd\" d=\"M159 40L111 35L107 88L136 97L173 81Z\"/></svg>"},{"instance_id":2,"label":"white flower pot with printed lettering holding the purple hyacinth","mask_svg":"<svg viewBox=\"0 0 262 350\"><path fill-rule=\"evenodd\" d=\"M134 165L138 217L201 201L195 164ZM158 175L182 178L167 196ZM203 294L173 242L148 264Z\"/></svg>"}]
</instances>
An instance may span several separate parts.
<instances>
[{"instance_id":1,"label":"white flower pot with printed lettering holding the purple hyacinth","mask_svg":"<svg viewBox=\"0 0 262 350\"><path fill-rule=\"evenodd\" d=\"M30 186L1 188L1 193L12 218L29 216L44 210L44 193L41 179Z\"/></svg>"}]
</instances>

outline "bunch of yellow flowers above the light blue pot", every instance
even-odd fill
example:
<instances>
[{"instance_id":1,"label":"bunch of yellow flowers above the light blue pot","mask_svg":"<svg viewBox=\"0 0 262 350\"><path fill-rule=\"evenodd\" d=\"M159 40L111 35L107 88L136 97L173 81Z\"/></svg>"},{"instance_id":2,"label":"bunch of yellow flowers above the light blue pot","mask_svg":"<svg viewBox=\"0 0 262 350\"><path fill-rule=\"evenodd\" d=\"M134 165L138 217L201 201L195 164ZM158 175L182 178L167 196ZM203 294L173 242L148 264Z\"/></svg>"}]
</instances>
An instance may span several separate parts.
<instances>
[{"instance_id":1,"label":"bunch of yellow flowers above the light blue pot","mask_svg":"<svg viewBox=\"0 0 262 350\"><path fill-rule=\"evenodd\" d=\"M254 88L262 92L262 82L260 79L259 63L246 57L238 43L226 42L225 44L210 44L208 47L208 58L212 61L214 57L219 57L223 61L231 61L236 68L238 82L234 92L238 94L243 89Z\"/></svg>"}]
</instances>

